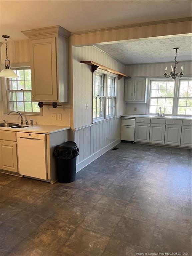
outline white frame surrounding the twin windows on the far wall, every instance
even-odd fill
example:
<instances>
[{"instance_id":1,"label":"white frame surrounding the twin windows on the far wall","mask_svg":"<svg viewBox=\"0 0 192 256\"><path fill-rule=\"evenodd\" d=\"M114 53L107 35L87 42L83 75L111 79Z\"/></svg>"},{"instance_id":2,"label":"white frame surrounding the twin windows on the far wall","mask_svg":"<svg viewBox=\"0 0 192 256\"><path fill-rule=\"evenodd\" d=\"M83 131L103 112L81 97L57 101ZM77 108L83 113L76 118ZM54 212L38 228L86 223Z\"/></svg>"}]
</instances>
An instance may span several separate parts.
<instances>
[{"instance_id":1,"label":"white frame surrounding the twin windows on the far wall","mask_svg":"<svg viewBox=\"0 0 192 256\"><path fill-rule=\"evenodd\" d=\"M165 79L165 77L153 77L153 78L148 79L147 105L146 105L146 112L147 112L148 115L153 115L149 111L151 81L165 81L165 80L173 81L172 78L166 78ZM192 115L177 114L178 102L179 102L179 83L180 83L181 80L192 80L192 77L183 76L182 78L176 78L175 79L175 89L174 89L174 97L173 97L173 111L172 111L172 114L164 114L165 116L192 116Z\"/></svg>"}]
</instances>

